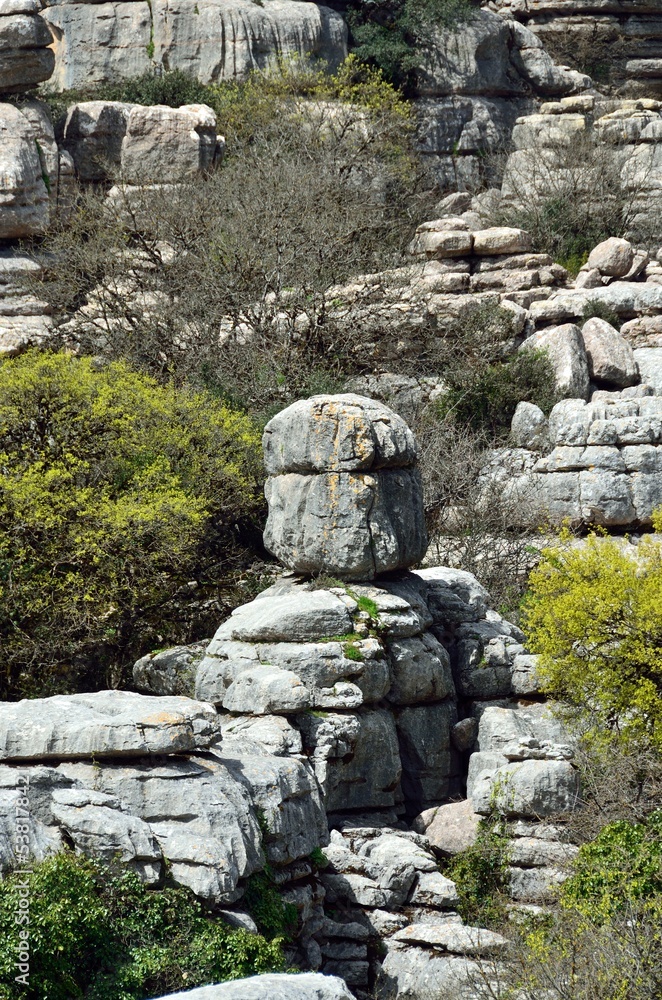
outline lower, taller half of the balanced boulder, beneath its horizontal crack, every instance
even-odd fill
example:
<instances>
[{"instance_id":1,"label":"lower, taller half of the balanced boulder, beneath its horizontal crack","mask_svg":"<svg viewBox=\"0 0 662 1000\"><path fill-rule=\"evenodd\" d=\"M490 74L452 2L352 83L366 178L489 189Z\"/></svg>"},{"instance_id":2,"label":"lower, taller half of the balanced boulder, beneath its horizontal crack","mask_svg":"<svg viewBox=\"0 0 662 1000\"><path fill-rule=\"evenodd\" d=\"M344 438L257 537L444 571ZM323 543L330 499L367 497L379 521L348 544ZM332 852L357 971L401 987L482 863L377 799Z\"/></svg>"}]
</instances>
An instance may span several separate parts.
<instances>
[{"instance_id":1,"label":"lower, taller half of the balanced boulder, beneath its horizontal crack","mask_svg":"<svg viewBox=\"0 0 662 1000\"><path fill-rule=\"evenodd\" d=\"M266 548L298 573L372 579L406 569L427 548L420 474L415 468L374 473L289 473L265 486Z\"/></svg>"}]
</instances>

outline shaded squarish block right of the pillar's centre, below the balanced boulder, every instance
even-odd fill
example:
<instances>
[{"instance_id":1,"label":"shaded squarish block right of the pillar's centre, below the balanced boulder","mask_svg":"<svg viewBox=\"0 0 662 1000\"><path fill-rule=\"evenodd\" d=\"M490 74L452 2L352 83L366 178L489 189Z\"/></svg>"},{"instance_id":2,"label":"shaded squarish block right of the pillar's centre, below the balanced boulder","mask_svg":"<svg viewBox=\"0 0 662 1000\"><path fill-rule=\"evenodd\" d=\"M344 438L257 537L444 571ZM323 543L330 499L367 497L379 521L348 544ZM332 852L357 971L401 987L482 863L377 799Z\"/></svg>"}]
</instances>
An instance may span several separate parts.
<instances>
[{"instance_id":1,"label":"shaded squarish block right of the pillar's centre, below the balanced boulder","mask_svg":"<svg viewBox=\"0 0 662 1000\"><path fill-rule=\"evenodd\" d=\"M396 705L440 701L455 693L450 657L430 632L388 644L391 687L388 700Z\"/></svg>"}]
</instances>

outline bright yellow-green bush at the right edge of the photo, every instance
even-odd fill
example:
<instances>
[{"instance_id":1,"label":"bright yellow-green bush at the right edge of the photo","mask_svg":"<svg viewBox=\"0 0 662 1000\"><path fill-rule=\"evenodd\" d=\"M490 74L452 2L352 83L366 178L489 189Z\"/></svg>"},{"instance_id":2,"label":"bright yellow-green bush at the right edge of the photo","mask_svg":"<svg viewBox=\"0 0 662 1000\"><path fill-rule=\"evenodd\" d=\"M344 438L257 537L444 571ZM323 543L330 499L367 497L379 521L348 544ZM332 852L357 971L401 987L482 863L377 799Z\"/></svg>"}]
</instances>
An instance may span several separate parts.
<instances>
[{"instance_id":1,"label":"bright yellow-green bush at the right edge of the photo","mask_svg":"<svg viewBox=\"0 0 662 1000\"><path fill-rule=\"evenodd\" d=\"M546 690L594 739L662 747L662 547L564 536L543 550L529 586L523 627Z\"/></svg>"}]
</instances>

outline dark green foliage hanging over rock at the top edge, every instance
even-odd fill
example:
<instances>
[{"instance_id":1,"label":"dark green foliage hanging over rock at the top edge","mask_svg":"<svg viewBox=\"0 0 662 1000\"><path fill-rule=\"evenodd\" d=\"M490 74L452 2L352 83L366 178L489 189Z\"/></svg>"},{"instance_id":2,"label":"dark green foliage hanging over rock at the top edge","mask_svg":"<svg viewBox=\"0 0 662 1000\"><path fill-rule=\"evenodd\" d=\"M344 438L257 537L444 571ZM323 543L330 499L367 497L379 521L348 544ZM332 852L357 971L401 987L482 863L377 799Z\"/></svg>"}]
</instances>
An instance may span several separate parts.
<instances>
[{"instance_id":1,"label":"dark green foliage hanging over rock at the top edge","mask_svg":"<svg viewBox=\"0 0 662 1000\"><path fill-rule=\"evenodd\" d=\"M457 30L472 9L470 0L351 0L347 20L354 55L378 66L396 86L413 91L416 71L436 34Z\"/></svg>"}]
</instances>

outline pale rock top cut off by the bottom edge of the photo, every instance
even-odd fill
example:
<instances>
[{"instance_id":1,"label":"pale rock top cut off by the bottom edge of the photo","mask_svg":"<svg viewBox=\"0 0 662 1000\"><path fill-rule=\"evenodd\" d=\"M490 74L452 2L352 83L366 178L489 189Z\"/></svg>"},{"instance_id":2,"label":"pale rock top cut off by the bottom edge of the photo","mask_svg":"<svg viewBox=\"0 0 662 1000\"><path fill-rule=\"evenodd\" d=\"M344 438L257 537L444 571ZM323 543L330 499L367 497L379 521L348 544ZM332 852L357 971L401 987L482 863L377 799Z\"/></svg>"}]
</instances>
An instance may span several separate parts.
<instances>
[{"instance_id":1,"label":"pale rock top cut off by the bottom edge of the photo","mask_svg":"<svg viewBox=\"0 0 662 1000\"><path fill-rule=\"evenodd\" d=\"M269 973L171 993L161 1000L353 1000L342 979L316 972Z\"/></svg>"}]
</instances>

